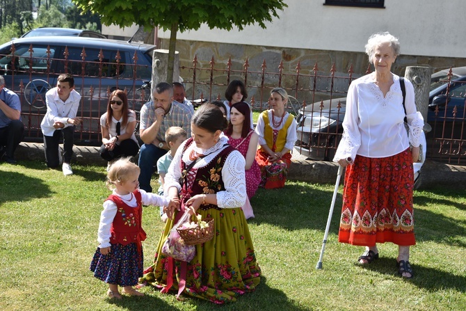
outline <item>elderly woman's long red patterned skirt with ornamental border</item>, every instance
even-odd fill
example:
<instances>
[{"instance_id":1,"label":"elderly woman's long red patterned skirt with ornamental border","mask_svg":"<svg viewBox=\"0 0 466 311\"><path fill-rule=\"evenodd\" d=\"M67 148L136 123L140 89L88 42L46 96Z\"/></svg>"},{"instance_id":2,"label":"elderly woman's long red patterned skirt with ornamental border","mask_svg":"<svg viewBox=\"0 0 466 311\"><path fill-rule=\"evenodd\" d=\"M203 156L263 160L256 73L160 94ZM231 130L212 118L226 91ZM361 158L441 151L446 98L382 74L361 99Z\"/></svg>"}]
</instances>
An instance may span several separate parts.
<instances>
[{"instance_id":1,"label":"elderly woman's long red patterned skirt with ornamental border","mask_svg":"<svg viewBox=\"0 0 466 311\"><path fill-rule=\"evenodd\" d=\"M346 166L338 241L359 246L415 245L410 150L392 157L357 155Z\"/></svg>"}]
</instances>

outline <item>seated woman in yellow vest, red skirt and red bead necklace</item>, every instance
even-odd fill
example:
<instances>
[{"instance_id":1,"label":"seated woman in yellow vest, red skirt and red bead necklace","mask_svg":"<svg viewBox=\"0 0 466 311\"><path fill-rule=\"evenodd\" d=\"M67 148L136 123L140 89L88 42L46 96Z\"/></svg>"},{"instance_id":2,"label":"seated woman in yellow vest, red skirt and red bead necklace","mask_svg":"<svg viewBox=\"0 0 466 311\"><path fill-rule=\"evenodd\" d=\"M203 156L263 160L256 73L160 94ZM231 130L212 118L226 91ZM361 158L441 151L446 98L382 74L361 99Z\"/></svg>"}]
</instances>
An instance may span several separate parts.
<instances>
[{"instance_id":1,"label":"seated woman in yellow vest, red skirt and red bead necklace","mask_svg":"<svg viewBox=\"0 0 466 311\"><path fill-rule=\"evenodd\" d=\"M296 142L296 120L284 110L288 94L274 88L269 99L272 109L262 111L257 120L256 133L260 148L256 161L261 168L261 184L266 189L282 188L291 165L291 150Z\"/></svg>"}]
</instances>

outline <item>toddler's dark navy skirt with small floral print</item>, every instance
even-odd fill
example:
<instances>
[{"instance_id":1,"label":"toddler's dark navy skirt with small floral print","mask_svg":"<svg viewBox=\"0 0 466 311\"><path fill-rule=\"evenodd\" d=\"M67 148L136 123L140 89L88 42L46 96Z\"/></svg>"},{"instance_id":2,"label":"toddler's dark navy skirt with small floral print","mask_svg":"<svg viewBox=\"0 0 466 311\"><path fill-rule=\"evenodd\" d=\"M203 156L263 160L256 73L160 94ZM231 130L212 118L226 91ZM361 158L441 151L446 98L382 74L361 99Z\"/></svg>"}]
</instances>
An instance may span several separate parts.
<instances>
[{"instance_id":1,"label":"toddler's dark navy skirt with small floral print","mask_svg":"<svg viewBox=\"0 0 466 311\"><path fill-rule=\"evenodd\" d=\"M122 287L138 284L138 278L143 275L143 254L138 252L135 243L128 245L112 244L108 255L102 255L97 248L90 271L99 280Z\"/></svg>"}]
</instances>

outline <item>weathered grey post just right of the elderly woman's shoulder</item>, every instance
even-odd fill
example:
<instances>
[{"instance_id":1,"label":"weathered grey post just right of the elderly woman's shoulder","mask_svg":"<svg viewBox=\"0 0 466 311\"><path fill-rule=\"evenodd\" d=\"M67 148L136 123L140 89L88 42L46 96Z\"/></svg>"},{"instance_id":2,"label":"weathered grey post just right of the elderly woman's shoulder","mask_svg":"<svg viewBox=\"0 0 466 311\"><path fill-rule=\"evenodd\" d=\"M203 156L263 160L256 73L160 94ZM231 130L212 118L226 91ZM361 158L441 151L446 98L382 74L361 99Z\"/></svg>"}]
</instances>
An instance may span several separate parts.
<instances>
[{"instance_id":1,"label":"weathered grey post just right of the elderly woman's shoulder","mask_svg":"<svg viewBox=\"0 0 466 311\"><path fill-rule=\"evenodd\" d=\"M431 68L421 66L408 66L405 71L405 78L411 81L415 88L416 109L424 118L424 131L428 132L431 127L427 124L427 109L429 87L431 86Z\"/></svg>"}]
</instances>

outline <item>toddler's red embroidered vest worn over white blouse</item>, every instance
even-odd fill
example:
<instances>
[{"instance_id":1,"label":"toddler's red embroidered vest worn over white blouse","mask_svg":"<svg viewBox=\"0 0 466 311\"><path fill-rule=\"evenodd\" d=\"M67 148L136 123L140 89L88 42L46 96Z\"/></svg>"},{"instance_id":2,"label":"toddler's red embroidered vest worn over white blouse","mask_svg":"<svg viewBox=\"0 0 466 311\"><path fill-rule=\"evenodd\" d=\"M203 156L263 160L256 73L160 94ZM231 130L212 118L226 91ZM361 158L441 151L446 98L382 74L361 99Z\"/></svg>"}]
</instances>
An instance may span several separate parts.
<instances>
[{"instance_id":1,"label":"toddler's red embroidered vest worn over white blouse","mask_svg":"<svg viewBox=\"0 0 466 311\"><path fill-rule=\"evenodd\" d=\"M138 250L141 251L141 241L144 241L146 234L141 227L143 216L142 197L138 190L133 192L136 198L137 207L129 207L119 196L111 195L107 200L115 202L117 214L113 218L111 225L111 244L128 245L136 243Z\"/></svg>"}]
</instances>

